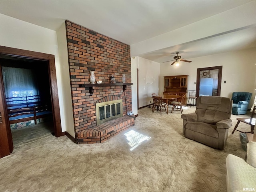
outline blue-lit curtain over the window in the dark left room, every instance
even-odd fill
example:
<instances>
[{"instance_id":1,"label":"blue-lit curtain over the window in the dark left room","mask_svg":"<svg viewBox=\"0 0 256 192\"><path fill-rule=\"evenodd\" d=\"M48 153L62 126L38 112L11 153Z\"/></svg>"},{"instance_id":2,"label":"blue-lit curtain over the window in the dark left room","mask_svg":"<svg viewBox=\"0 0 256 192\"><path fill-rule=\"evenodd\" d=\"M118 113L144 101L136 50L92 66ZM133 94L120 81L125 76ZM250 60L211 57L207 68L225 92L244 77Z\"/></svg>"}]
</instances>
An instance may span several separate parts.
<instances>
[{"instance_id":1,"label":"blue-lit curtain over the window in the dark left room","mask_svg":"<svg viewBox=\"0 0 256 192\"><path fill-rule=\"evenodd\" d=\"M31 69L2 67L6 97L38 95L36 78Z\"/></svg>"}]
</instances>

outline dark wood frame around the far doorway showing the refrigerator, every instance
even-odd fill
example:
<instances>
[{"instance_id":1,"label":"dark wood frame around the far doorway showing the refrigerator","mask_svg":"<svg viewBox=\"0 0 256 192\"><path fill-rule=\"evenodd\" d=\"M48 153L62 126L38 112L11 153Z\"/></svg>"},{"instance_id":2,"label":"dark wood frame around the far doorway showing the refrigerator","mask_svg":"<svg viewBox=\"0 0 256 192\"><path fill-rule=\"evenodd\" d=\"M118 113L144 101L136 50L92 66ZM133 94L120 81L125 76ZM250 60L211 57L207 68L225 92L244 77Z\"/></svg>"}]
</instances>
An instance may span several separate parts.
<instances>
[{"instance_id":1,"label":"dark wood frame around the far doorway showing the refrigerator","mask_svg":"<svg viewBox=\"0 0 256 192\"><path fill-rule=\"evenodd\" d=\"M219 70L218 74L218 90L217 90L217 96L220 96L220 90L221 90L221 78L222 78L222 66L215 66L215 67L206 67L206 68L198 68L196 72L196 96L199 96L199 89L200 89L200 71L204 70Z\"/></svg>"}]
</instances>

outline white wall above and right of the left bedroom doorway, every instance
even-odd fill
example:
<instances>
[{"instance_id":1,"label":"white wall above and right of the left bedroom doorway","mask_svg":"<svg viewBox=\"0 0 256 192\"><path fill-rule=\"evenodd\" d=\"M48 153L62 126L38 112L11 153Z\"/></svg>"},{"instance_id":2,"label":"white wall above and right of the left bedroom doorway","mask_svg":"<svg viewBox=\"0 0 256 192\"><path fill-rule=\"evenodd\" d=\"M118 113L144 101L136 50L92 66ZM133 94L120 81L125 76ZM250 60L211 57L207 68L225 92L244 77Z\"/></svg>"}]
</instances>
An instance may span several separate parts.
<instances>
[{"instance_id":1,"label":"white wall above and right of the left bedroom doorway","mask_svg":"<svg viewBox=\"0 0 256 192\"><path fill-rule=\"evenodd\" d=\"M61 74L60 68L56 31L24 22L3 14L0 14L0 26L1 46L42 52L55 56L56 78L60 101L61 126L62 132L66 131L65 119L70 117L66 117L64 114L64 105L66 105L66 103L64 103L62 99L62 96L64 95L62 87L70 87L70 84L62 85L63 76Z\"/></svg>"}]
</instances>

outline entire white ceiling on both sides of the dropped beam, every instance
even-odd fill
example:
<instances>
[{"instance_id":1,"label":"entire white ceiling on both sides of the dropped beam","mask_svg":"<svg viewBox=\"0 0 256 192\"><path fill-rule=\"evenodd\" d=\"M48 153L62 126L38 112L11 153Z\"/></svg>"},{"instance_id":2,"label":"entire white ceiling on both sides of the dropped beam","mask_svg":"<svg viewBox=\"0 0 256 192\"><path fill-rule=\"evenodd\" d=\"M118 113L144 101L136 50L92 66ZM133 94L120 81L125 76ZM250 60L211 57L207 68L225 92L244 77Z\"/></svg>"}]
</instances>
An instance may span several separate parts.
<instances>
[{"instance_id":1,"label":"entire white ceiling on both sides of the dropped beam","mask_svg":"<svg viewBox=\"0 0 256 192\"><path fill-rule=\"evenodd\" d=\"M0 0L0 13L52 30L70 20L133 45L249 2L255 0ZM138 56L161 63L177 51L188 59L255 46L252 25Z\"/></svg>"}]
</instances>

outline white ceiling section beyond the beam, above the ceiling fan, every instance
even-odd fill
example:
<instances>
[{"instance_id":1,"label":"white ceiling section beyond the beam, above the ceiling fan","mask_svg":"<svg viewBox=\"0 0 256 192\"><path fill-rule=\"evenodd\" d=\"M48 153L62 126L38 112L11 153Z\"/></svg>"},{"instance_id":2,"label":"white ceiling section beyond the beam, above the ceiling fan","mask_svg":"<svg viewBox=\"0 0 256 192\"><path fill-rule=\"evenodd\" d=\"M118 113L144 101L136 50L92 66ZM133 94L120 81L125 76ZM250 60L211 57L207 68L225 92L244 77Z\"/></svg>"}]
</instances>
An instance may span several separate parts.
<instances>
[{"instance_id":1,"label":"white ceiling section beyond the beam, above the ceiling fan","mask_svg":"<svg viewBox=\"0 0 256 192\"><path fill-rule=\"evenodd\" d=\"M140 57L162 63L173 60L173 57L176 56L176 52L179 52L182 58L196 58L252 47L256 47L256 27L179 44L147 54L141 54ZM184 57L184 55L186 57Z\"/></svg>"}]
</instances>

